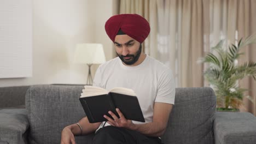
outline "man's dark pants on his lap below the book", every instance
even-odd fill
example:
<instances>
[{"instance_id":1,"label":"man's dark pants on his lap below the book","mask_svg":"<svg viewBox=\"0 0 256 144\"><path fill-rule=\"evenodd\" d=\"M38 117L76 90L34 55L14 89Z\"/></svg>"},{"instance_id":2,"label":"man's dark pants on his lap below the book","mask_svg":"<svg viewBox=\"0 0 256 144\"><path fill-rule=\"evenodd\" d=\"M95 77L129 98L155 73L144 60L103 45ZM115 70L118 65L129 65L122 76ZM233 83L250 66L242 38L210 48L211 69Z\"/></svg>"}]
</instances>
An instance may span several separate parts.
<instances>
[{"instance_id":1,"label":"man's dark pants on his lap below the book","mask_svg":"<svg viewBox=\"0 0 256 144\"><path fill-rule=\"evenodd\" d=\"M137 144L160 144L161 140L158 137L148 137L144 136L137 131L118 128L113 126L107 126L99 129L94 138L92 139L92 143L101 144L101 143L137 143Z\"/></svg>"}]
</instances>

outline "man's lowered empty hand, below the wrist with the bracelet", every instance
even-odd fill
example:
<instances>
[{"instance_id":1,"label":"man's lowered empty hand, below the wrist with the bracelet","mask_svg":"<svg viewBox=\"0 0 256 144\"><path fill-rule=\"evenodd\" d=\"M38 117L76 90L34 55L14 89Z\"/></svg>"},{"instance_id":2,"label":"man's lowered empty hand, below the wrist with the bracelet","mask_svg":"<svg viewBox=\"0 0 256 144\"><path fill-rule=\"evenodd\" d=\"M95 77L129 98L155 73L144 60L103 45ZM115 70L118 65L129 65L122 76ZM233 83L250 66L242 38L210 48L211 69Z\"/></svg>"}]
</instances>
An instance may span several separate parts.
<instances>
[{"instance_id":1,"label":"man's lowered empty hand, below the wrist with the bracelet","mask_svg":"<svg viewBox=\"0 0 256 144\"><path fill-rule=\"evenodd\" d=\"M61 132L61 144L75 144L74 135L69 127L65 127Z\"/></svg>"}]
</instances>

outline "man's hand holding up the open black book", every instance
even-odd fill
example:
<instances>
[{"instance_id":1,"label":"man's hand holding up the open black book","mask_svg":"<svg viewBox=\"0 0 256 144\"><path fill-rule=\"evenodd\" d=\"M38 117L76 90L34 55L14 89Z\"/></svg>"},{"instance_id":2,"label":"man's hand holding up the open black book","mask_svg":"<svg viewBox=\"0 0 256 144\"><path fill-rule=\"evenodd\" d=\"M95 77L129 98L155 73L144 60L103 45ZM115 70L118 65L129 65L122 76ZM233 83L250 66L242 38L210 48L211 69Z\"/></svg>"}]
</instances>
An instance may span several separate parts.
<instances>
[{"instance_id":1,"label":"man's hand holding up the open black book","mask_svg":"<svg viewBox=\"0 0 256 144\"><path fill-rule=\"evenodd\" d=\"M114 127L123 127L123 128L127 128L127 129L131 129L131 130L135 130L136 129L136 125L134 123L132 123L131 120L126 119L123 115L123 113L121 113L121 111L119 109L116 109L118 115L120 118L118 118L115 113L113 113L112 111L109 111L109 115L112 116L112 118L108 117L107 115L104 115L104 118L106 118L108 121L107 123L109 123L110 125L114 126Z\"/></svg>"}]
</instances>

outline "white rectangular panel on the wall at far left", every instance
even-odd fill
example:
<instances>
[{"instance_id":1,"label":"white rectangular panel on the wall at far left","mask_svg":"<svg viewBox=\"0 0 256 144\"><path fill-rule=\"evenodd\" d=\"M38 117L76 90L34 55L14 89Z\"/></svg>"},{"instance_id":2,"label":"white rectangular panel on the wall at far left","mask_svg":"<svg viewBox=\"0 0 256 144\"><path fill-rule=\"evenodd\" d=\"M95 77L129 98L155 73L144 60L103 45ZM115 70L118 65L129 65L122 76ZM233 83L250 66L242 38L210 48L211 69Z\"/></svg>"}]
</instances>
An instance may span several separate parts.
<instances>
[{"instance_id":1,"label":"white rectangular panel on the wall at far left","mask_svg":"<svg viewBox=\"0 0 256 144\"><path fill-rule=\"evenodd\" d=\"M32 76L32 1L0 0L0 78Z\"/></svg>"}]
</instances>

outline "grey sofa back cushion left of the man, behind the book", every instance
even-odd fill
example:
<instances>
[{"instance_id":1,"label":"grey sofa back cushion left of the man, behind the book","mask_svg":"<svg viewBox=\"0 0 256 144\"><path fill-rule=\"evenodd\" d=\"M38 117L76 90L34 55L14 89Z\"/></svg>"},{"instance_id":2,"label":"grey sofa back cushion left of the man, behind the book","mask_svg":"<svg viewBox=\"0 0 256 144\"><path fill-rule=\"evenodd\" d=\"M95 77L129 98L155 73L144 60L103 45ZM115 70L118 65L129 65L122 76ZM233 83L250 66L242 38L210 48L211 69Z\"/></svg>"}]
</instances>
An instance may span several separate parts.
<instances>
[{"instance_id":1,"label":"grey sofa back cushion left of the man, behind the book","mask_svg":"<svg viewBox=\"0 0 256 144\"><path fill-rule=\"evenodd\" d=\"M35 85L26 94L30 143L60 143L61 131L85 117L79 97L83 86ZM90 137L77 137L86 142Z\"/></svg>"}]
</instances>

